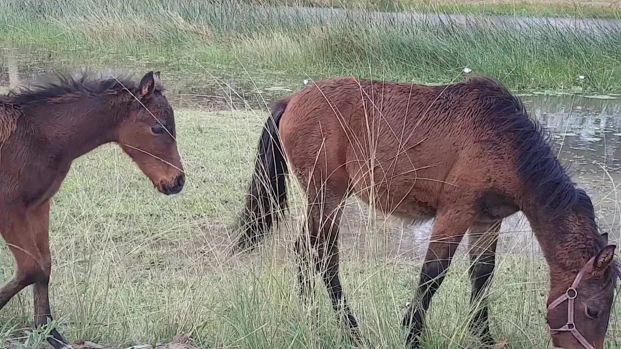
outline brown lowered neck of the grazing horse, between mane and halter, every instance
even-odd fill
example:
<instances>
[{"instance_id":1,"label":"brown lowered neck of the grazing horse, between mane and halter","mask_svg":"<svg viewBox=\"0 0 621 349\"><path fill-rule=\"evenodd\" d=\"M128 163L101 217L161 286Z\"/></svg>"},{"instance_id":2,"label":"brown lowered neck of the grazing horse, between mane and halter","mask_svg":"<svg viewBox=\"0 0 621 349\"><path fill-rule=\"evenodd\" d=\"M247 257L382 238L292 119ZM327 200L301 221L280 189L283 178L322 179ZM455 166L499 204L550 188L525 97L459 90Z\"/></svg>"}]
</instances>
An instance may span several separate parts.
<instances>
[{"instance_id":1,"label":"brown lowered neck of the grazing horse, between mane and halter","mask_svg":"<svg viewBox=\"0 0 621 349\"><path fill-rule=\"evenodd\" d=\"M596 225L580 207L574 205L561 213L552 213L531 204L522 211L550 266L551 279L573 278L596 254Z\"/></svg>"}]
</instances>

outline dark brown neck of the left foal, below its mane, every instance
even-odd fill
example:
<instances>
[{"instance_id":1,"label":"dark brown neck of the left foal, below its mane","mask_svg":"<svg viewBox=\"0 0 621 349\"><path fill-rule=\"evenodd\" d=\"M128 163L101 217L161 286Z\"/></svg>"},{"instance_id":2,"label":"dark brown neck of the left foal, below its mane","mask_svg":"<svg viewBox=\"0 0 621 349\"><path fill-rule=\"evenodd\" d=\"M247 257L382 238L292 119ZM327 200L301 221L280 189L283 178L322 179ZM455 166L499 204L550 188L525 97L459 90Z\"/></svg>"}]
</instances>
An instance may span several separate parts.
<instances>
[{"instance_id":1,"label":"dark brown neck of the left foal, below its mane","mask_svg":"<svg viewBox=\"0 0 621 349\"><path fill-rule=\"evenodd\" d=\"M43 104L27 112L35 116L32 121L37 125L37 134L43 135L63 158L70 161L112 142L116 125L128 113L129 107L105 103L98 96Z\"/></svg>"}]
</instances>

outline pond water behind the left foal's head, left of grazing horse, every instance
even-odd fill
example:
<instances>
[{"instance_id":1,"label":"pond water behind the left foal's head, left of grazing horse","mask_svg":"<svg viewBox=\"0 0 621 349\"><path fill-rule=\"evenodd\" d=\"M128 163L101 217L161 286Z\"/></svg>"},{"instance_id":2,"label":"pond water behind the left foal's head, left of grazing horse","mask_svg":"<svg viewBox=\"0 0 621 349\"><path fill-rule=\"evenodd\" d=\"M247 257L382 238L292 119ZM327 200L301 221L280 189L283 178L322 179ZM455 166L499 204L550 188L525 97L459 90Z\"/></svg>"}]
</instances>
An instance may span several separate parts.
<instances>
[{"instance_id":1,"label":"pond water behind the left foal's head, left of grazing horse","mask_svg":"<svg viewBox=\"0 0 621 349\"><path fill-rule=\"evenodd\" d=\"M93 61L88 55L81 57L66 52L40 52L35 48L3 48L0 60L0 86L14 88L36 84L53 74L91 68L102 71L104 76L115 74L142 75L148 70L161 70L167 95L176 107L202 109L268 109L271 102L283 94L302 88L302 79L265 71L247 71L230 66L193 66L167 62L163 58L129 59L131 66L117 65L114 57L101 58L106 63ZM187 62L186 62L187 63ZM9 78L10 77L10 78ZM282 86L282 87L281 87Z\"/></svg>"}]
</instances>

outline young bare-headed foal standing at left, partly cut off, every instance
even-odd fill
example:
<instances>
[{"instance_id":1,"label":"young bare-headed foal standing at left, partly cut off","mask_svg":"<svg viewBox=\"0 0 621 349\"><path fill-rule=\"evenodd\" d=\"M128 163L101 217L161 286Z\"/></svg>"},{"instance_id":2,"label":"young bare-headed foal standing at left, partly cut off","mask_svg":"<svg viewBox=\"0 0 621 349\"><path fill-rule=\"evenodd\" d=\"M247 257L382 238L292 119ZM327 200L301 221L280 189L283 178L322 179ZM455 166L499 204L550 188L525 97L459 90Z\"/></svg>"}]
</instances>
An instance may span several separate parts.
<instances>
[{"instance_id":1,"label":"young bare-headed foal standing at left, partly cut off","mask_svg":"<svg viewBox=\"0 0 621 349\"><path fill-rule=\"evenodd\" d=\"M175 137L160 72L148 72L140 84L60 76L0 97L0 233L17 263L14 278L0 288L0 309L32 284L35 326L52 319L50 199L75 158L118 143L161 193L176 194L185 177ZM65 347L57 330L51 334L52 347Z\"/></svg>"}]
</instances>

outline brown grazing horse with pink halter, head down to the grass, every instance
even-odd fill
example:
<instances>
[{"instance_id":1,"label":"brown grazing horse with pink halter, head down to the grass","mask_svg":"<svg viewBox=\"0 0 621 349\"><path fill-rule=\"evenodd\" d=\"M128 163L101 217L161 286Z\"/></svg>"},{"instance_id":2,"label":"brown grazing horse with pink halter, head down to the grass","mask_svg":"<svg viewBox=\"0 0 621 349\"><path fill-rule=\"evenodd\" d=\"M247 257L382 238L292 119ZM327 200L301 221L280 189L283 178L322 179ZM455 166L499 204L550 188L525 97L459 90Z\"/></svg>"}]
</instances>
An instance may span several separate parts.
<instances>
[{"instance_id":1,"label":"brown grazing horse with pink halter, head down to the grass","mask_svg":"<svg viewBox=\"0 0 621 349\"><path fill-rule=\"evenodd\" d=\"M307 271L315 269L354 339L358 322L339 280L337 247L343 201L352 194L386 214L435 219L402 322L412 347L466 231L471 303L479 306L469 327L494 343L484 296L501 221L522 211L550 270L554 344L602 348L619 274L615 245L599 234L591 199L572 183L542 128L497 81L424 86L342 77L278 101L259 141L238 250L254 247L286 209L288 164L308 202L307 230L296 243L302 297L310 297Z\"/></svg>"}]
</instances>

